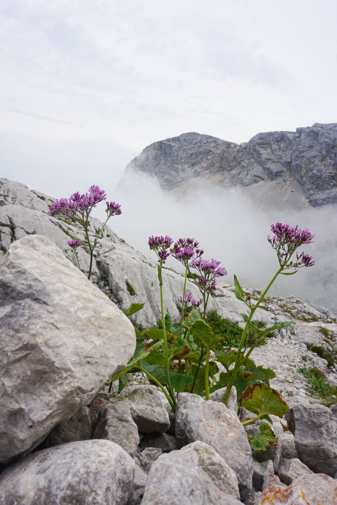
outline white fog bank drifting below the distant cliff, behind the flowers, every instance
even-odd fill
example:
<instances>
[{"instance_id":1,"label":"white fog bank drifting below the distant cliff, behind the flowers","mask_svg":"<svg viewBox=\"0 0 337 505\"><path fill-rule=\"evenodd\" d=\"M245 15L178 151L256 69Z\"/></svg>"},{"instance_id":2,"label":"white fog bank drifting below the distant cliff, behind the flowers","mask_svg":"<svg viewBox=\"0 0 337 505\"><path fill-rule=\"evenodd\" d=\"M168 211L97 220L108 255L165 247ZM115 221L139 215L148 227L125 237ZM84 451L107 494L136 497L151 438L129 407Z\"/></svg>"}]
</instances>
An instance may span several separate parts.
<instances>
[{"instance_id":1,"label":"white fog bank drifting below the distant cliff, behind the flowers","mask_svg":"<svg viewBox=\"0 0 337 505\"><path fill-rule=\"evenodd\" d=\"M233 284L235 274L246 287L263 289L278 268L266 238L270 224L280 221L308 228L315 234L314 242L300 250L313 256L316 265L301 268L294 276L279 276L270 294L293 294L337 314L335 207L266 212L236 188L205 188L176 196L162 191L155 178L135 173L124 176L116 190L107 188L107 197L122 208L122 215L109 221L110 227L143 254L156 258L149 250L150 235L194 237L205 250L205 259L220 260L227 269L223 282ZM180 270L174 259L167 266Z\"/></svg>"}]
</instances>

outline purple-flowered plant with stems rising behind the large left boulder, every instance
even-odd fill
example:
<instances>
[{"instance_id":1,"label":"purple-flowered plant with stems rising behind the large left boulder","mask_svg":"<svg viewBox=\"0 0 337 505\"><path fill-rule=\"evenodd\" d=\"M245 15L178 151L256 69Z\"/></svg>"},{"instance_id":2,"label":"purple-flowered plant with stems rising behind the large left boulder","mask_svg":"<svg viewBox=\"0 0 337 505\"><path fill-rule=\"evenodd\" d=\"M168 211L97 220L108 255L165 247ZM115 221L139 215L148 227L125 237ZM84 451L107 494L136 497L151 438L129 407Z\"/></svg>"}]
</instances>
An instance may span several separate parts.
<instances>
[{"instance_id":1,"label":"purple-flowered plant with stems rising behind the large left boulder","mask_svg":"<svg viewBox=\"0 0 337 505\"><path fill-rule=\"evenodd\" d=\"M105 225L107 224L108 220L112 216L119 216L120 214L122 214L119 204L116 204L114 201L110 201L110 202L107 201L106 202L106 204L107 204L107 208L106 208L107 219L106 219L105 223L103 224L102 228L95 235L95 238L94 238L93 242L91 243L90 239L89 239L90 213L91 213L92 209L94 209L97 206L97 204L101 203L101 201L104 201L106 199L107 198L106 198L105 191L103 189L100 189L99 186L92 185L89 187L87 193L80 194L77 191L76 193L73 193L70 196L70 198L60 198L59 200L55 200L49 210L50 216L61 218L65 221L68 221L68 222L70 221L72 223L78 223L80 226L82 226L82 228L84 230L85 239L88 244L89 252L90 252L90 265L89 265L88 279L90 279L90 276L91 276L93 251L97 245L97 241L98 241L102 231L105 228ZM70 241L68 241L68 244L75 252L78 266L80 268L78 255L77 255L77 247L82 245L82 242L80 240L70 240Z\"/></svg>"}]
</instances>

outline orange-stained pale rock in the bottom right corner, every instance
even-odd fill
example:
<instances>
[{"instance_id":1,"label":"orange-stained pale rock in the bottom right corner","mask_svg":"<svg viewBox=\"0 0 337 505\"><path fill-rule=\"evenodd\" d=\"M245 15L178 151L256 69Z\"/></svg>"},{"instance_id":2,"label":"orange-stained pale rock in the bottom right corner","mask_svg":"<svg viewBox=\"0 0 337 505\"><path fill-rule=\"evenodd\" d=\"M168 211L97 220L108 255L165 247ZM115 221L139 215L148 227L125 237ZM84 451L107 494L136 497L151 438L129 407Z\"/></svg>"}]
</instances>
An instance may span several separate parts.
<instances>
[{"instance_id":1,"label":"orange-stained pale rock in the bottom right corner","mask_svg":"<svg viewBox=\"0 0 337 505\"><path fill-rule=\"evenodd\" d=\"M255 505L334 505L337 482L323 474L301 475L284 489L269 487L262 491Z\"/></svg>"}]
</instances>

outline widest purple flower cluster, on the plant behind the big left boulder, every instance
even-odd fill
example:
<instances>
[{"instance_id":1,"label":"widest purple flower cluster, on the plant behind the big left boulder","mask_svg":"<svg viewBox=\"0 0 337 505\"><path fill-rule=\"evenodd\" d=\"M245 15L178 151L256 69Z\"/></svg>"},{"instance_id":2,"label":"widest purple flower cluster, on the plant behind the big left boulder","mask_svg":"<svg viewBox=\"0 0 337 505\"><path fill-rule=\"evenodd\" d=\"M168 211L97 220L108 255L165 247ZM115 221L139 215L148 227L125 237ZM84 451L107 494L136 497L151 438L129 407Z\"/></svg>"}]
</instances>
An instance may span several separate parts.
<instances>
[{"instance_id":1,"label":"widest purple flower cluster, on the plant behind the big left boulder","mask_svg":"<svg viewBox=\"0 0 337 505\"><path fill-rule=\"evenodd\" d=\"M97 204L105 199L105 191L100 189L99 186L92 185L89 187L87 193L80 194L76 191L69 199L60 198L59 200L55 200L51 205L49 215L55 216L58 214L75 219L77 213L82 216L84 214L88 215Z\"/></svg>"}]
</instances>

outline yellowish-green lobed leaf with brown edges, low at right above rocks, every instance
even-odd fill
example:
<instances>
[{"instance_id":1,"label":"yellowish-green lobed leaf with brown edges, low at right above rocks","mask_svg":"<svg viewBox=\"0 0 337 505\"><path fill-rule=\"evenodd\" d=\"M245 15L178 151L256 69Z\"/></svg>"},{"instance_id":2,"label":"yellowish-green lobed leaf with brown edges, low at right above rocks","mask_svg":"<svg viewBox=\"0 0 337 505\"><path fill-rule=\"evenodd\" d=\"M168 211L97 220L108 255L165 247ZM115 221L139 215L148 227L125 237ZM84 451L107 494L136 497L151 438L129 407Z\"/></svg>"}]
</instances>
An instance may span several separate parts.
<instances>
[{"instance_id":1,"label":"yellowish-green lobed leaf with brown edges, low at right above rocks","mask_svg":"<svg viewBox=\"0 0 337 505\"><path fill-rule=\"evenodd\" d=\"M248 386L240 395L238 403L257 415L273 414L282 417L289 410L280 392L267 384Z\"/></svg>"}]
</instances>

